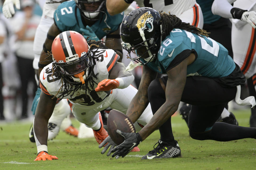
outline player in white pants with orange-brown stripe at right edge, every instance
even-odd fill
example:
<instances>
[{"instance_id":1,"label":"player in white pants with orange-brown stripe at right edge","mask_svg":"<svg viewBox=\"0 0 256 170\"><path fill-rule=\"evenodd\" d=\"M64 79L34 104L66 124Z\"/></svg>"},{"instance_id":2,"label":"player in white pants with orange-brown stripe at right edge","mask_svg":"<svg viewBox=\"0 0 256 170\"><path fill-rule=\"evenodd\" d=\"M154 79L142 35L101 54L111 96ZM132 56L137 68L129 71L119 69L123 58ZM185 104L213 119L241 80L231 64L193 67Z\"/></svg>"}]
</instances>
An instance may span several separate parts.
<instances>
[{"instance_id":1,"label":"player in white pants with orange-brown stripe at right edge","mask_svg":"<svg viewBox=\"0 0 256 170\"><path fill-rule=\"evenodd\" d=\"M230 3L233 2L232 6ZM247 79L249 94L254 97L256 97L255 11L256 1L250 0L215 0L212 6L213 14L232 18L231 43L234 61ZM255 108L251 108L250 127L256 127Z\"/></svg>"}]
</instances>

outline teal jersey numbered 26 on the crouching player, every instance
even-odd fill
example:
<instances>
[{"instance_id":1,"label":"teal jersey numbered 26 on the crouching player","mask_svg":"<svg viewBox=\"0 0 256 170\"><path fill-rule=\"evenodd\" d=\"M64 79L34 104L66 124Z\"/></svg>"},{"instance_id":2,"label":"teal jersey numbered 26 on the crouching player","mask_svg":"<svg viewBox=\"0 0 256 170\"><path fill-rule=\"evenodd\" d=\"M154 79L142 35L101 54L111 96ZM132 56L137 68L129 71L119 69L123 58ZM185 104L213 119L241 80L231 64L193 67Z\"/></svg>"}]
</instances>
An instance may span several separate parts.
<instances>
[{"instance_id":1,"label":"teal jersey numbered 26 on the crouching player","mask_svg":"<svg viewBox=\"0 0 256 170\"><path fill-rule=\"evenodd\" d=\"M223 45L209 37L198 36L182 29L173 29L162 41L157 60L146 65L158 73L165 74L191 52L195 54L196 59L187 66L187 76L219 78L228 76L235 69L235 62Z\"/></svg>"}]
</instances>

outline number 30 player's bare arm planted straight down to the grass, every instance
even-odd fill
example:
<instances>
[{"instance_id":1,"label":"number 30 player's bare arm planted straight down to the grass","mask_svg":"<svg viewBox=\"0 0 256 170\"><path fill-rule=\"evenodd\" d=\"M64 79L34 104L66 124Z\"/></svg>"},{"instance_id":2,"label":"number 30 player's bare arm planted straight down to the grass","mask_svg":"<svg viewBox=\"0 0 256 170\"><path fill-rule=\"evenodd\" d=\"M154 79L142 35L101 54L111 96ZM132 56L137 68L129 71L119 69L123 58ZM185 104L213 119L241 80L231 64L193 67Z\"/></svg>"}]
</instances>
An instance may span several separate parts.
<instances>
[{"instance_id":1,"label":"number 30 player's bare arm planted straight down to the grass","mask_svg":"<svg viewBox=\"0 0 256 170\"><path fill-rule=\"evenodd\" d=\"M53 113L57 98L41 92L34 119L34 133L41 145L47 145L48 121Z\"/></svg>"}]
</instances>

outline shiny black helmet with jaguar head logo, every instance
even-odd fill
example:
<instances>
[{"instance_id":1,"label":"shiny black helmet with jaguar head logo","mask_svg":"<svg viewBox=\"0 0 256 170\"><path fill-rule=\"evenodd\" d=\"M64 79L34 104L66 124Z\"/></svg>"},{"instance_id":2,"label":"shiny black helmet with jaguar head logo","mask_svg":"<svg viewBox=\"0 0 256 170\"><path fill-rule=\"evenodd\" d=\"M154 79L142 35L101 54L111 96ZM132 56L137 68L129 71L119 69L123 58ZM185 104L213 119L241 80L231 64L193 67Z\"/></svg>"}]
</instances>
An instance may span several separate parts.
<instances>
[{"instance_id":1,"label":"shiny black helmet with jaguar head logo","mask_svg":"<svg viewBox=\"0 0 256 170\"><path fill-rule=\"evenodd\" d=\"M123 49L127 50L129 57L141 62L140 58L146 63L153 61L161 45L162 25L160 24L160 14L153 8L142 7L131 11L122 22L121 38ZM143 53L137 50L144 48ZM131 57L131 51L138 55L137 58ZM146 63L141 62L143 65Z\"/></svg>"}]
</instances>

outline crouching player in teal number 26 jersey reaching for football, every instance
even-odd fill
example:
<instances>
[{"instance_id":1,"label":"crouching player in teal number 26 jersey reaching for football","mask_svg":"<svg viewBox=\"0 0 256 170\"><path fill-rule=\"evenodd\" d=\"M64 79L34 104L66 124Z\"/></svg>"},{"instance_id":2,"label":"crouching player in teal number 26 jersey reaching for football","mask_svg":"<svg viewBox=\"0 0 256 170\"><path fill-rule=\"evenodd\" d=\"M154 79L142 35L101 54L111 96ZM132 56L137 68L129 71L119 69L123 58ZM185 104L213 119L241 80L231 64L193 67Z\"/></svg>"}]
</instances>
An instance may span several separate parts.
<instances>
[{"instance_id":1,"label":"crouching player in teal number 26 jersey reaching for football","mask_svg":"<svg viewBox=\"0 0 256 170\"><path fill-rule=\"evenodd\" d=\"M130 150L159 129L158 146L142 159L173 158L181 155L174 139L171 116L180 101L191 104L189 133L193 139L231 141L256 138L256 129L216 122L225 105L236 97L241 105L255 105L254 97L240 99L245 76L221 44L207 37L205 30L183 23L175 15L159 14L152 8L138 8L125 17L121 26L123 48L135 52L131 58L143 65L137 94L127 115L134 122L150 102L154 116L137 133L124 133L125 141L114 148L112 157ZM156 73L165 73L160 79ZM238 92L237 92L238 91Z\"/></svg>"}]
</instances>

